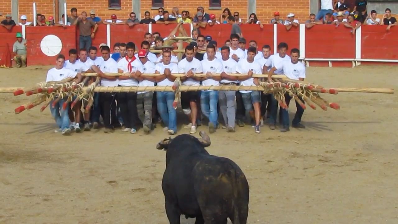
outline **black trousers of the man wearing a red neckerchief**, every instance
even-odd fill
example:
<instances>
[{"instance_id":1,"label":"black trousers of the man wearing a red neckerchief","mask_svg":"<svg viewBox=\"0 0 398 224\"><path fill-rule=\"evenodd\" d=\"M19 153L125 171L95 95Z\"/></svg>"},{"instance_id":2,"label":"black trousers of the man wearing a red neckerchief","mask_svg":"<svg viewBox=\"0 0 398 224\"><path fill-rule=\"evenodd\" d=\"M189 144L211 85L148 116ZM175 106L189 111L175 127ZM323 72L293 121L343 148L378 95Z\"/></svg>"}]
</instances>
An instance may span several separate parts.
<instances>
[{"instance_id":1,"label":"black trousers of the man wearing a red neckerchief","mask_svg":"<svg viewBox=\"0 0 398 224\"><path fill-rule=\"evenodd\" d=\"M117 103L120 105L123 123L126 128L134 128L138 126L137 112L137 92L118 92ZM137 120L138 119L138 120Z\"/></svg>"}]
</instances>

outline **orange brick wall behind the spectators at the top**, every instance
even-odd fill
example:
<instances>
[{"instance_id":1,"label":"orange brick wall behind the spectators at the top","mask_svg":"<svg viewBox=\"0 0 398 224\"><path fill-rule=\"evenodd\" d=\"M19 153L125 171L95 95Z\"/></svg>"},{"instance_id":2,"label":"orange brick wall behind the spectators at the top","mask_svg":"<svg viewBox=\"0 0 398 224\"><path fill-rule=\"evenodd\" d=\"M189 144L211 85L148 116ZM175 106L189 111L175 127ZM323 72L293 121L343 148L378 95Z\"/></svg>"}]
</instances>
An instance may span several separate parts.
<instances>
[{"instance_id":1,"label":"orange brick wall behind the spectators at the top","mask_svg":"<svg viewBox=\"0 0 398 224\"><path fill-rule=\"evenodd\" d=\"M55 14L54 12L54 0L35 0L37 13L44 14L46 18ZM150 11L152 17L158 14L158 10L151 10L151 0L141 0L141 16L144 15L145 11ZM309 1L308 0L257 0L257 16L262 23L269 23L269 20L273 18L273 13L279 11L281 17L285 19L286 15L290 12L296 14L296 18L300 22L304 22L308 18L309 14ZM96 10L98 16L103 20L110 18L111 14L116 14L120 19L127 19L129 13L131 12L133 6L131 0L121 0L121 10L109 10L107 0L67 0L68 9L67 12L70 14L70 8L76 7L78 9L78 14L82 11L90 11L91 9ZM26 15L28 21L33 21L33 10L32 10L33 0L19 0L19 16ZM233 13L238 11L241 15L242 20L245 22L248 19L247 14L247 1L231 1L222 0L221 10L209 10L208 0L197 0L194 2L184 1L184 0L164 0L164 8L171 11L174 6L179 8L179 12L182 10L188 10L191 16L196 14L197 6L203 6L205 12L215 14L217 19L219 18L222 10L224 8L229 8ZM0 12L5 16L11 13L11 0L0 0ZM3 16L3 18L4 18ZM14 18L18 20L19 18Z\"/></svg>"}]
</instances>

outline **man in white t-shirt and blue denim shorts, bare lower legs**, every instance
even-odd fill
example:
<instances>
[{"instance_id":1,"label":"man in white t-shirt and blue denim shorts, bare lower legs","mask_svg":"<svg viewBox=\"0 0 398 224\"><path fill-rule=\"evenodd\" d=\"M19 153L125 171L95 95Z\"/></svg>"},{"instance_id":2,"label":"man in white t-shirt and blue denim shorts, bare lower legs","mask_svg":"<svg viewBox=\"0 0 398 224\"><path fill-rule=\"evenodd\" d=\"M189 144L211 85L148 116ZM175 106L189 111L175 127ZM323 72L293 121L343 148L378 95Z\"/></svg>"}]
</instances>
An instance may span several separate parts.
<instances>
[{"instance_id":1,"label":"man in white t-shirt and blue denim shorts, bare lower legs","mask_svg":"<svg viewBox=\"0 0 398 224\"><path fill-rule=\"evenodd\" d=\"M252 77L254 74L261 74L261 65L254 61L256 52L256 47L249 47L246 59L238 62L236 72L240 74L247 74L245 76L238 77L241 86L255 86L259 84L258 78ZM252 90L240 90L239 92L242 93L243 104L246 111L249 111L250 116L256 122L254 126L255 132L260 133L260 92Z\"/></svg>"}]
</instances>

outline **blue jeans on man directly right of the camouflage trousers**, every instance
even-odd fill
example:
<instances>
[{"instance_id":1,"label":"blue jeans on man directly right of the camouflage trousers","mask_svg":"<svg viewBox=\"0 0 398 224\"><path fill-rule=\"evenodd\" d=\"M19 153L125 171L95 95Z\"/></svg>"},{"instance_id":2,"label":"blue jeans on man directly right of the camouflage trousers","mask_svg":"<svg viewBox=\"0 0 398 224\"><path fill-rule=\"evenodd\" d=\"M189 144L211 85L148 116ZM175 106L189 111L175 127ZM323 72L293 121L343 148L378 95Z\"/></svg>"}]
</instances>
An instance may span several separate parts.
<instances>
[{"instance_id":1,"label":"blue jeans on man directly right of the camouflage trousers","mask_svg":"<svg viewBox=\"0 0 398 224\"><path fill-rule=\"evenodd\" d=\"M164 126L177 132L177 113L173 107L174 92L156 92L158 111Z\"/></svg>"}]
</instances>

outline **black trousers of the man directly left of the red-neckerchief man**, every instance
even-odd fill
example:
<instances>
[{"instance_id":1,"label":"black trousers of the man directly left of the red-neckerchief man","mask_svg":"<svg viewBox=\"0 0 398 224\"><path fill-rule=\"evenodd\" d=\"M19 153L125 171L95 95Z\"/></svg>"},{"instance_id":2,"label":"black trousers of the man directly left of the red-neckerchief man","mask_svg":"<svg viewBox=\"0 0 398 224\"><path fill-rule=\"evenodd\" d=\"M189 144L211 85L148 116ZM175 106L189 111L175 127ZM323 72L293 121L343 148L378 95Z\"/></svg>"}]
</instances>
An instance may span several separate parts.
<instances>
[{"instance_id":1,"label":"black trousers of the man directly left of the red-neckerchief man","mask_svg":"<svg viewBox=\"0 0 398 224\"><path fill-rule=\"evenodd\" d=\"M101 110L105 128L113 129L116 118L115 92L100 92Z\"/></svg>"}]
</instances>

